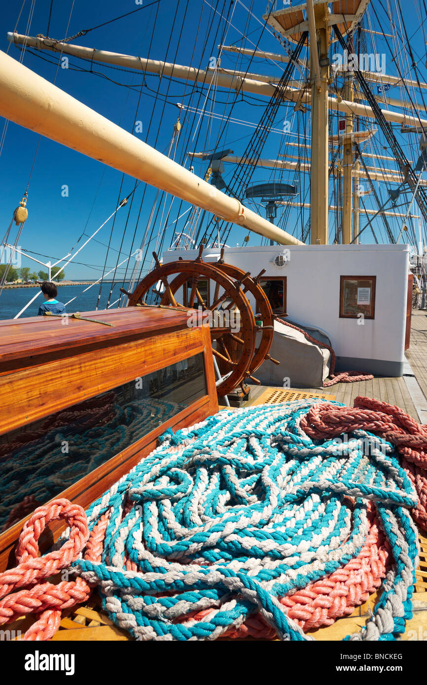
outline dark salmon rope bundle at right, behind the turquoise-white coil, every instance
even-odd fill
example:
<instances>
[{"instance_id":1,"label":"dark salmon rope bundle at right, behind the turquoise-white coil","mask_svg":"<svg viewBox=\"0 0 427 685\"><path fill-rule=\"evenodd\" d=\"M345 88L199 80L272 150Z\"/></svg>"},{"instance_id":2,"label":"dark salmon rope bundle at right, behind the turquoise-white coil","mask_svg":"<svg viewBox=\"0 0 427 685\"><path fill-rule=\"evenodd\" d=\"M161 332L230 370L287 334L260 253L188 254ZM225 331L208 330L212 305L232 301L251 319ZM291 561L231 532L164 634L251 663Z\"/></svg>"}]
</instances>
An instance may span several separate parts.
<instances>
[{"instance_id":1,"label":"dark salmon rope bundle at right, behind the turquoise-white coil","mask_svg":"<svg viewBox=\"0 0 427 685\"><path fill-rule=\"evenodd\" d=\"M330 402L313 404L301 421L310 438L330 439L355 429L367 430L396 446L401 464L418 495L413 519L427 531L427 427L394 405L358 396L354 407Z\"/></svg>"}]
</instances>

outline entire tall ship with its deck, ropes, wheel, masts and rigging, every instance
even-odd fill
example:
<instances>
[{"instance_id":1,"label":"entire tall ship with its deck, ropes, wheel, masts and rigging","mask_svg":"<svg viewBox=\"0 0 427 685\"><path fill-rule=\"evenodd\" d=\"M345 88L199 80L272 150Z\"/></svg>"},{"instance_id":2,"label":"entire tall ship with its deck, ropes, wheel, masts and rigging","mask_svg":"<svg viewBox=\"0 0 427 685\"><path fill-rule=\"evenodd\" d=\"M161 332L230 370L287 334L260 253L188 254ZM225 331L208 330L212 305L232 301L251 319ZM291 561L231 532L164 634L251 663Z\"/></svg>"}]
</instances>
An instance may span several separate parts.
<instances>
[{"instance_id":1,"label":"entire tall ship with its deck, ropes, wheel, masts and rigging","mask_svg":"<svg viewBox=\"0 0 427 685\"><path fill-rule=\"evenodd\" d=\"M28 284L0 321L7 639L424 639L427 12L411 2L411 21L401 0L136 2L68 35L73 2L62 38L55 3L46 36L34 1L16 8L0 154L16 125L35 149L0 312L17 258L54 290ZM110 51L134 25L142 55ZM71 71L112 82L130 125L83 80L60 87ZM62 259L25 247L46 138L103 170L96 227ZM106 169L117 198L99 208ZM35 316L95 242L101 275Z\"/></svg>"}]
</instances>

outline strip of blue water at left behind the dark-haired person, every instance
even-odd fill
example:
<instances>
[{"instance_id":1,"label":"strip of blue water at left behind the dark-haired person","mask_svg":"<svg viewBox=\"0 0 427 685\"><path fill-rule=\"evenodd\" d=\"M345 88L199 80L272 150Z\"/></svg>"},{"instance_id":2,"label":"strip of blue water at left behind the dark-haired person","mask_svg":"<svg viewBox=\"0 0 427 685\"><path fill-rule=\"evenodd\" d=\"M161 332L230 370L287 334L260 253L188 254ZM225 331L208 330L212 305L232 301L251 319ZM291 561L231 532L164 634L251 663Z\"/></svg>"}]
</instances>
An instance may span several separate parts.
<instances>
[{"instance_id":1,"label":"strip of blue water at left behind the dark-haired person","mask_svg":"<svg viewBox=\"0 0 427 685\"><path fill-rule=\"evenodd\" d=\"M101 299L99 300L99 309L106 308L108 296L110 295L110 287L110 283L104 282L101 290ZM124 287L126 290L127 286L125 285ZM73 312L90 312L95 309L97 304L99 284L82 294L82 290L85 288L88 288L88 286L59 286L58 297L56 299L65 304L72 297L76 297L77 295L78 297L66 307L66 312L69 314L73 314ZM110 304L118 299L120 295L119 288L121 288L121 283L115 283ZM40 291L40 287L38 286L34 286L34 288L5 288L0 295L0 319L13 319L38 291ZM125 301L127 301L125 295L122 295L122 301L123 297L125 298ZM24 318L25 316L37 316L38 308L44 301L40 292L37 299L35 299L25 312L21 314L20 318ZM117 304L115 304L114 307L117 307Z\"/></svg>"}]
</instances>

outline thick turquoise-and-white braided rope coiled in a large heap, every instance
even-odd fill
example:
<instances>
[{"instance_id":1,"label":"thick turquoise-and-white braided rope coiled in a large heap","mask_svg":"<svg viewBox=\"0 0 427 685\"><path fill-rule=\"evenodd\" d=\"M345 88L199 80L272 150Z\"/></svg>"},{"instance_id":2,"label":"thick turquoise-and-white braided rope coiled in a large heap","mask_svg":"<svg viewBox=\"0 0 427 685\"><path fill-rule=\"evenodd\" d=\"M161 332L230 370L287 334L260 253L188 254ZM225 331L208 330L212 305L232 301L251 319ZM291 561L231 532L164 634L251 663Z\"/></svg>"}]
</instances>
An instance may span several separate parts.
<instances>
[{"instance_id":1,"label":"thick turquoise-and-white braided rope coiled in a large heap","mask_svg":"<svg viewBox=\"0 0 427 685\"><path fill-rule=\"evenodd\" d=\"M219 412L169 430L90 506L90 530L110 514L102 560L81 558L72 570L99 586L114 623L143 640L215 639L260 612L281 639L309 639L278 598L358 556L373 501L393 566L352 639L404 632L418 553L408 509L417 495L385 440L361 430L341 444L308 438L300 419L315 401ZM175 621L208 607L206 621Z\"/></svg>"}]
</instances>

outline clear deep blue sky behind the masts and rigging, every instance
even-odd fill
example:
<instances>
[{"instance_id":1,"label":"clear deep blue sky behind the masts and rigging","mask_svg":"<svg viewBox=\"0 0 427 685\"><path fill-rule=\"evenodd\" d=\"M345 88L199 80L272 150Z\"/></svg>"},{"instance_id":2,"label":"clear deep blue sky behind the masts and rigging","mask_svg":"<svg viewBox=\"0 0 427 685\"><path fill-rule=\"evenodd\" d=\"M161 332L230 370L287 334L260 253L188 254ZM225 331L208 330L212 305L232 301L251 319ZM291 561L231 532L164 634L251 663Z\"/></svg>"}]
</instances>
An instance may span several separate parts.
<instances>
[{"instance_id":1,"label":"clear deep blue sky behind the masts and rigging","mask_svg":"<svg viewBox=\"0 0 427 685\"><path fill-rule=\"evenodd\" d=\"M149 0L144 1L146 5L149 2ZM16 18L21 10L21 4L21 0L17 0L3 5L0 20L2 29L0 32L0 48L3 50L8 49L9 44L5 34L14 29ZM280 5L280 1L278 4ZM411 7L413 4L414 0L409 0L408 5L405 5L404 18L406 29L408 34L413 36L411 38L411 45L413 45L416 59L419 60L420 75L423 80L427 80L425 66L425 40L427 35L424 35L427 33L427 23L423 24L426 18L423 0L421 0L421 5L419 5L418 0L416 2L416 6L420 6L424 13L422 14L421 21ZM46 35L50 5L50 0L35 1L34 14L32 15L31 25L28 30L30 35ZM254 16L250 16L247 9L245 9L249 8L249 5L252 6ZM245 47L254 47L254 43L258 41L262 31L262 26L256 21L256 17L262 21L266 5L266 0L254 0L253 3L251 3L251 0L245 0L244 2L236 1L232 6L230 6L228 0L226 2L223 0L219 2L217 0L210 0L209 2L204 0L188 0L188 3L186 0L181 0L178 3L177 10L177 2L175 0L161 0L155 27L154 20L157 5L144 8L131 16L90 31L86 36L80 36L80 38L73 42L77 45L97 47L98 49L131 55L149 55L153 59L166 60L168 62L173 62L175 59L180 64L193 64L194 66L201 64L202 68L206 68L210 56L217 54L216 46L219 43L219 38L217 37L215 40L215 30L217 27L219 28L219 36L225 27L225 21L223 19L219 21L219 13L215 13L212 8L217 6L222 11L225 7L224 14L226 14L230 6L229 16L234 12L232 15L232 25L228 26L225 42L228 44L245 45ZM374 0L374 7L381 16L384 16L378 0ZM17 27L19 33L25 33L26 31L29 10L31 8L32 0L26 0ZM70 18L71 8L73 11ZM93 0L90 3L85 0L75 0L74 3L72 0L53 0L49 36L58 39L63 38L65 35L72 36L82 29L95 27L104 21L119 16L119 14L125 14L125 12L130 12L136 8L138 8L138 5L136 5L134 0L125 0L121 3L114 2L113 0ZM201 13L202 18L200 19ZM371 16L372 21L374 21L373 15ZM200 25L198 29L199 20ZM68 23L69 27L67 29ZM182 36L180 36L181 29ZM242 33L246 34L245 41L243 41ZM384 48L381 40L381 37L378 36L378 49L380 51ZM281 51L279 43L269 32L264 32L260 40L260 47L268 51ZM19 60L21 53L12 45L10 46L9 54L14 59ZM40 59L40 57L33 55L31 51L27 50L23 57L23 64L53 82L56 75L58 55L43 52L42 57L45 60L49 60L49 62ZM236 64L236 55L230 53L223 55L221 66L233 68ZM245 71L247 64L247 60L243 60L238 68L243 68ZM76 66L90 69L90 65L87 62L75 58L70 59L70 66L72 67L70 69L58 69L56 85L59 88L62 88L73 95L73 97L81 100L130 132L133 132L134 119L142 121L143 134L138 135L143 140L147 140L149 145L155 146L162 152L167 150L173 124L177 119L178 108L176 108L175 103L192 103L195 107L200 107L204 102L204 95L199 96L195 93L191 99L188 97L191 85L185 86L184 82L171 82L169 79L164 78L160 84L160 97L156 101L151 128L148 130L149 121L153 114L154 95L159 86L158 77L147 75L145 86L141 90L141 74L108 69L106 66L98 65L93 67L93 71L97 71L105 77L88 73L88 71L74 71ZM258 71L258 73L270 75L280 75L281 73L278 66L260 59L253 60L249 71ZM393 65L391 65L390 69L387 69L387 72L396 73L393 71ZM135 90L129 90L129 88L124 86L113 84L108 79L114 79L121 84L131 84ZM391 89L388 95L399 97L398 92L393 92L393 90L395 89ZM140 95L141 99L138 105ZM166 103L162 101L162 96L167 96ZM427 97L427 91L424 91L424 97ZM232 102L234 93L230 95L225 90L218 89L215 93L215 113L221 115L224 111L230 112L230 106L223 104L227 99L229 99L229 103ZM197 105L198 102L199 104ZM232 116L249 125L251 123L256 124L266 104L267 100L261 98L250 99L250 102L249 99L241 101L234 106ZM209 103L208 106L210 106ZM286 119L287 116L293 122L291 132L293 137L289 139L296 141L297 128L291 114L290 106L284 105L281 108L281 120ZM192 140L195 132L195 122L197 122L197 118L193 119L193 116L193 114L189 114L183 119L180 142L175 157L178 162L182 162L185 159L186 150L195 149L195 140L197 140L196 147L198 150L213 147L212 143L215 143L217 134L221 129L221 121L219 119L204 117L195 134L195 140ZM3 129L3 120L0 121L0 129ZM223 145L220 147L230 147L236 155L239 155L243 153L252 132L253 129L247 125L230 123L222 138ZM198 138L197 134L199 134ZM0 184L1 188L3 188L3 201L0 206L0 220L3 225L1 230L2 236L10 223L12 212L21 200L27 186L34 162L34 154L38 146L38 139L38 134L29 132L14 123L9 123L3 151L0 156ZM407 141L403 140L403 143L406 145ZM282 134L270 134L263 150L263 157L276 158L280 145L282 145ZM195 173L204 175L205 171L206 164L195 163ZM227 165L225 180L230 179L231 175L232 167ZM257 180L268 179L269 177L271 177L271 171L268 169L258 169L254 174L254 179ZM20 245L28 251L45 255L46 257L38 257L43 261L47 260L47 258L52 260L60 258L71 248L73 248L73 251L76 251L86 239L85 237L81 238L82 234L86 233L89 235L114 211L119 197L121 180L122 174L120 172L104 167L99 162L90 160L90 158L62 147L47 138L41 138L29 184L27 202L29 219L25 223ZM127 195L134 188L134 183L134 179L125 177L120 197ZM308 179L306 179L307 183ZM62 197L62 187L64 185L69 188L69 197ZM107 257L108 268L114 267L117 262L126 220L127 227L121 247L122 255L120 260L125 259L132 247L135 229L136 238L133 249L139 247L156 193L154 189L147 187L141 206L143 191L144 185L141 184L136 189L130 210L130 205L128 205L125 210L120 210L117 214L110 251ZM383 197L385 196L383 195ZM170 199L166 203L165 211L169 207L169 201ZM179 207L179 201L175 201L170 215L171 219L175 219L178 216ZM188 206L184 205L181 212L184 212L187 208ZM177 213L175 213L175 210ZM130 213L127 219L128 211ZM160 213L161 211L160 209ZM140 216L136 226L138 214ZM292 222L295 223L296 221L295 214L293 213L289 217L289 225L284 226L289 232L293 230ZM111 222L97 235L99 242L90 242L77 256L75 263L66 269L67 277L71 279L97 278L101 275L104 260L106 259L106 245L110 239L110 229ZM369 234L369 231L366 233ZM171 232L166 236L164 247L169 247L170 234ZM230 234L229 244L235 245L236 242L242 242L245 234L245 229L234 227ZM80 242L77 243L79 238L81 238ZM370 242L372 239L371 234L369 236L366 235L365 239ZM255 237L251 238L249 244L257 244L256 240L258 239ZM151 247L154 247L154 241L151 242ZM83 262L83 264L77 262ZM32 262L25 258L23 258L22 265L34 268ZM36 266L36 271L39 268L39 266ZM123 271L119 270L119 273L123 273Z\"/></svg>"}]
</instances>

